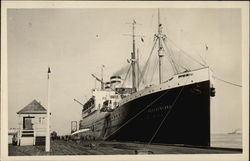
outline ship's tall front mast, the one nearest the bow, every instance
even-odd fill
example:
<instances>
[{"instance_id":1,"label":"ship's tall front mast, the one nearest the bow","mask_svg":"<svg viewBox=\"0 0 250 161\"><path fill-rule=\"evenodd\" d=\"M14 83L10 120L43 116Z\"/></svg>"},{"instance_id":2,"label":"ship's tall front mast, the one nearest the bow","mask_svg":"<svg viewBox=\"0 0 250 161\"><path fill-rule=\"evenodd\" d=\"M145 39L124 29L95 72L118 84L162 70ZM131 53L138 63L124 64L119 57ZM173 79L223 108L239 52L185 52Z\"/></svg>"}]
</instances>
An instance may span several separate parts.
<instances>
[{"instance_id":1,"label":"ship's tall front mast, the one nearest the bow","mask_svg":"<svg viewBox=\"0 0 250 161\"><path fill-rule=\"evenodd\" d=\"M160 22L160 9L158 9L158 56L159 56L159 83L162 83L162 57L164 56L164 51L161 43L161 39L164 35L162 35L162 24Z\"/></svg>"}]
</instances>

